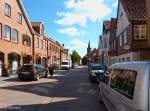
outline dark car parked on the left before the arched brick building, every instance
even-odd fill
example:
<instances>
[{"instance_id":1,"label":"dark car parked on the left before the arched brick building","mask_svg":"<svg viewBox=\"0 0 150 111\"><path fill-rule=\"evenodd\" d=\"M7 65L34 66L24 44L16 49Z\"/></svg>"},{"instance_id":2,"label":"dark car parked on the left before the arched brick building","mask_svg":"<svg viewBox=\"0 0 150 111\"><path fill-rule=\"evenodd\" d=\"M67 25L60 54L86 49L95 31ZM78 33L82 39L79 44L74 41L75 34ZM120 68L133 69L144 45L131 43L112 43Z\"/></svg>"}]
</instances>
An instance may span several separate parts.
<instances>
[{"instance_id":1,"label":"dark car parked on the left before the arched brick building","mask_svg":"<svg viewBox=\"0 0 150 111\"><path fill-rule=\"evenodd\" d=\"M26 64L18 71L20 80L39 80L48 76L48 70L41 65Z\"/></svg>"}]
</instances>

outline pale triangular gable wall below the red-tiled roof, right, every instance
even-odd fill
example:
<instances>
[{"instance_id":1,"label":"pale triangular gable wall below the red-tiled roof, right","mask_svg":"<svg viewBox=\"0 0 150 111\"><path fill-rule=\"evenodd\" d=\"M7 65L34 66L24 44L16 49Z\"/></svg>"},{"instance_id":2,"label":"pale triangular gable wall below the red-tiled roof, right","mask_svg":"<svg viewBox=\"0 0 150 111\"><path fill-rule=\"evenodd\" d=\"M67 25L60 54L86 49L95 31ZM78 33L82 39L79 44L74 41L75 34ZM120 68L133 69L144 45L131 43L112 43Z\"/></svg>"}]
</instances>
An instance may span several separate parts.
<instances>
[{"instance_id":1,"label":"pale triangular gable wall below the red-tiled roof, right","mask_svg":"<svg viewBox=\"0 0 150 111\"><path fill-rule=\"evenodd\" d=\"M117 37L122 33L130 24L128 16L123 8L122 3L119 1L118 12L117 12Z\"/></svg>"}]
</instances>

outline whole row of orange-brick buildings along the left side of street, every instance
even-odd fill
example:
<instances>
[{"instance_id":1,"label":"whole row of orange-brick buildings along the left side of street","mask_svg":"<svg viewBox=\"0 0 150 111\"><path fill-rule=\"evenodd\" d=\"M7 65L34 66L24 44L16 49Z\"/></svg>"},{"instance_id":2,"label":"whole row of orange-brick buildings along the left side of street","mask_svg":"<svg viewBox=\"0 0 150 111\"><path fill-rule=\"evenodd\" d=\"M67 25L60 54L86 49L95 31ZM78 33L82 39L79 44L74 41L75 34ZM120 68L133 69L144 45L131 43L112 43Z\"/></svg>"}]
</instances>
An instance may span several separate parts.
<instances>
[{"instance_id":1,"label":"whole row of orange-brick buildings along the left side of street","mask_svg":"<svg viewBox=\"0 0 150 111\"><path fill-rule=\"evenodd\" d=\"M30 23L21 0L0 0L0 76L3 64L12 73L27 63L60 65L66 51L44 30L42 22Z\"/></svg>"}]
</instances>

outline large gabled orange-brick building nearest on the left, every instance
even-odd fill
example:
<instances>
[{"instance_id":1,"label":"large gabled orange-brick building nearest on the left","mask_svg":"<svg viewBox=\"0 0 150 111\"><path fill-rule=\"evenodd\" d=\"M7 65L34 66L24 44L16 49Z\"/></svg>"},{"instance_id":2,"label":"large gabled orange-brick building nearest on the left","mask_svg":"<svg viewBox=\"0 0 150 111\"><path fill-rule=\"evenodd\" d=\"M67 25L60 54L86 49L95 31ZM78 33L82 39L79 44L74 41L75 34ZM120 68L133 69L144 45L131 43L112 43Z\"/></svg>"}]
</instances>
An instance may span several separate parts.
<instances>
[{"instance_id":1,"label":"large gabled orange-brick building nearest on the left","mask_svg":"<svg viewBox=\"0 0 150 111\"><path fill-rule=\"evenodd\" d=\"M32 63L33 35L21 0L1 0L0 67L5 64L15 72L22 64Z\"/></svg>"}]
</instances>

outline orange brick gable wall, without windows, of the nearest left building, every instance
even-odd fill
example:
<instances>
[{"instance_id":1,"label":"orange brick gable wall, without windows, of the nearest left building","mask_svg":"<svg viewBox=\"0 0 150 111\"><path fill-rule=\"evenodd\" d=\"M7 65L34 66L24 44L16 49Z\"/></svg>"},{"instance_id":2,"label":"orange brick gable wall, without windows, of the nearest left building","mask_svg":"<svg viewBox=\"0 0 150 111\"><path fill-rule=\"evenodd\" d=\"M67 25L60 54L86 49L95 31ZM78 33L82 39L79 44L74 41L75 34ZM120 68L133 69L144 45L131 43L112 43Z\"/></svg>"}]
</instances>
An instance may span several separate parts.
<instances>
[{"instance_id":1,"label":"orange brick gable wall, without windows, of the nearest left building","mask_svg":"<svg viewBox=\"0 0 150 111\"><path fill-rule=\"evenodd\" d=\"M8 3L11 6L11 17L5 16L4 12L5 3ZM20 12L22 14L22 24L17 22L17 12ZM30 47L27 47L22 44L23 34L26 34L27 36L30 37L31 44L33 35L29 30L29 27L18 5L17 0L0 1L0 23L2 24L2 27L4 27L4 25L8 25L9 27L14 28L18 31L18 43L4 40L3 36L2 37L0 36L0 52L3 52L5 55L4 58L6 66L8 66L8 54L12 52L15 52L21 56L20 65L22 65L23 63L22 54L26 53L31 56L33 54L32 45Z\"/></svg>"}]
</instances>

